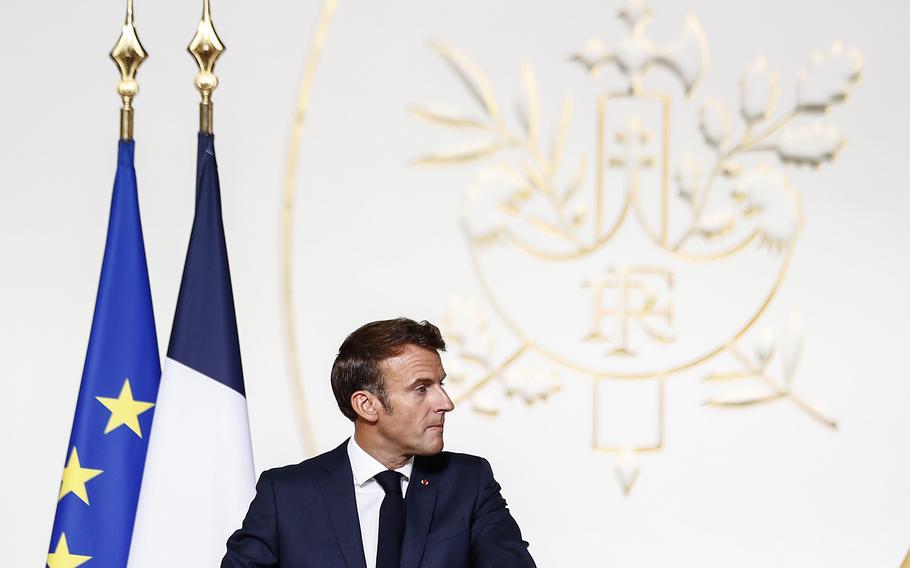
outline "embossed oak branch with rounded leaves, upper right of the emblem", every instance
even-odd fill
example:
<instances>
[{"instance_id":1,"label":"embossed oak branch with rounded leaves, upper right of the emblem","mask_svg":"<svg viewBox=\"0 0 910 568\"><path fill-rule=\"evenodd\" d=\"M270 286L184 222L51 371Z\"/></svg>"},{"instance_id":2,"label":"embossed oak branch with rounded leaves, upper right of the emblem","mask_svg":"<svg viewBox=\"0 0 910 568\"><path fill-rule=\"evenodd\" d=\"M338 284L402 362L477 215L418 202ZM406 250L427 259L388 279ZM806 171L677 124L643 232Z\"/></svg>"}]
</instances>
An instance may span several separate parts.
<instances>
[{"instance_id":1,"label":"embossed oak branch with rounded leaves, upper right of the emblem","mask_svg":"<svg viewBox=\"0 0 910 568\"><path fill-rule=\"evenodd\" d=\"M683 155L677 166L677 195L689 205L691 222L676 239L672 250L681 250L693 236L716 239L729 234L736 222L730 211L708 212L708 203L719 177L735 180L731 196L741 207L743 218L769 212L789 213L783 222L765 215L764 224L743 242L727 250L738 251L755 237L776 252L782 252L793 240L799 219L798 206L784 211L782 192L791 199L795 192L783 172L767 163L744 170L738 159L747 154L770 153L782 165L808 165L818 168L834 160L844 146L844 138L827 113L835 104L847 100L850 90L861 78L862 56L835 42L825 51L815 51L800 70L796 83L794 106L775 115L781 96L778 72L768 61L757 58L748 65L739 81L739 116L743 125L734 136L733 120L727 106L708 97L699 111L700 130L714 154L710 173L701 182L701 168L691 153ZM777 197L777 203L775 202Z\"/></svg>"}]
</instances>

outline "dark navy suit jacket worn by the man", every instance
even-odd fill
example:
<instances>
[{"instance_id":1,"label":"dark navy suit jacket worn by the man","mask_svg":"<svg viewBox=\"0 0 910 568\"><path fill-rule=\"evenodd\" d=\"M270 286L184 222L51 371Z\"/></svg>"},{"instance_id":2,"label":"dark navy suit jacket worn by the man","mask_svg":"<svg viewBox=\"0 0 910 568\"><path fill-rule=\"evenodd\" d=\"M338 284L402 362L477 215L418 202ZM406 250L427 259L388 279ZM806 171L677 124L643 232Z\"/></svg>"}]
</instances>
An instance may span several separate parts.
<instances>
[{"instance_id":1,"label":"dark navy suit jacket worn by the man","mask_svg":"<svg viewBox=\"0 0 910 568\"><path fill-rule=\"evenodd\" d=\"M365 568L347 442L259 478L222 568ZM483 458L414 459L401 568L535 566Z\"/></svg>"}]
</instances>

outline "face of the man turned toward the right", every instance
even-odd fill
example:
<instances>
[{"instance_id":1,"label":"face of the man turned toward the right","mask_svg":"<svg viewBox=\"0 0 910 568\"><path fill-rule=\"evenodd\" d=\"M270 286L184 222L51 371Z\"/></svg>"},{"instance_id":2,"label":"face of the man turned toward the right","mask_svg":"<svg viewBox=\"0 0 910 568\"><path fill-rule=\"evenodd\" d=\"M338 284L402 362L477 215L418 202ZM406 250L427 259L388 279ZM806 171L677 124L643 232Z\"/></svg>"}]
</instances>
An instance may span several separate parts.
<instances>
[{"instance_id":1,"label":"face of the man turned toward the right","mask_svg":"<svg viewBox=\"0 0 910 568\"><path fill-rule=\"evenodd\" d=\"M380 409L380 434L405 455L438 454L445 414L455 405L443 389L445 370L434 350L408 345L380 364L389 412Z\"/></svg>"}]
</instances>

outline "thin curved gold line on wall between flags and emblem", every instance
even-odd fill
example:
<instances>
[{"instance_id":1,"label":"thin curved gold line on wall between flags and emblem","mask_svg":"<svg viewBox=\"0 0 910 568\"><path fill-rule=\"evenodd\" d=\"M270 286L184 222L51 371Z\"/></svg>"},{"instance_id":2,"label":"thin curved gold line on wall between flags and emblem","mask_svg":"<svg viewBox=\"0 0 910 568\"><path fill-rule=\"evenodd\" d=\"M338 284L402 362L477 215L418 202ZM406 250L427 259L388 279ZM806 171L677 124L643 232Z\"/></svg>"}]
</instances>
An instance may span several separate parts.
<instances>
[{"instance_id":1,"label":"thin curved gold line on wall between flags and emblem","mask_svg":"<svg viewBox=\"0 0 910 568\"><path fill-rule=\"evenodd\" d=\"M309 55L303 69L303 78L297 95L297 108L291 129L291 140L288 145L287 166L284 174L284 196L281 210L281 282L282 303L284 304L285 345L288 354L288 388L297 417L297 434L307 455L316 453L316 441L311 428L310 414L307 410L303 376L300 371L300 350L297 348L297 318L294 313L294 203L296 198L297 169L300 156L300 141L303 137L303 124L310 105L310 92L316 78L316 65L322 46L329 33L329 26L335 14L336 0L326 0L322 5L319 22Z\"/></svg>"}]
</instances>

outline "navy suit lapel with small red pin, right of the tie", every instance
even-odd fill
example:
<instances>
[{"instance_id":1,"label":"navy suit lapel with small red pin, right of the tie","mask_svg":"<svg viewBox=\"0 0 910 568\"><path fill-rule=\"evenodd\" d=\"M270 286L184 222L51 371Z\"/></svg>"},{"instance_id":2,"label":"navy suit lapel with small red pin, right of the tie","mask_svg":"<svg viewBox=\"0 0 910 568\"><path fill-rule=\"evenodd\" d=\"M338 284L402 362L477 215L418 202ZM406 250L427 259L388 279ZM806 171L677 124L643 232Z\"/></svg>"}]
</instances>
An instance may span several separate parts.
<instances>
[{"instance_id":1,"label":"navy suit lapel with small red pin, right of the tie","mask_svg":"<svg viewBox=\"0 0 910 568\"><path fill-rule=\"evenodd\" d=\"M423 558L439 489L439 470L435 462L433 458L420 456L414 459L414 469L408 481L408 518L401 545L401 568L417 568Z\"/></svg>"}]
</instances>

